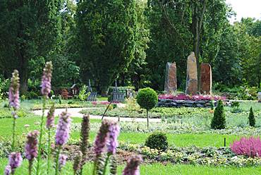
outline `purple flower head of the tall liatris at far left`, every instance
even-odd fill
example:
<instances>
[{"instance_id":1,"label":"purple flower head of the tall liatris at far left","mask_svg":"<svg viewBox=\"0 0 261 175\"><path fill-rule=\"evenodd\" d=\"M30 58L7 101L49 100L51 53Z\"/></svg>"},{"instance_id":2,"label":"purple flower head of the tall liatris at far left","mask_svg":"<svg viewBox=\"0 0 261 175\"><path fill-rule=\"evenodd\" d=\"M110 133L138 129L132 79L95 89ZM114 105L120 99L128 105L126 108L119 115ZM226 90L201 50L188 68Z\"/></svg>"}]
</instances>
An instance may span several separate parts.
<instances>
[{"instance_id":1,"label":"purple flower head of the tall liatris at far left","mask_svg":"<svg viewBox=\"0 0 261 175\"><path fill-rule=\"evenodd\" d=\"M14 109L18 109L20 107L19 102L19 73L17 70L13 71L11 78L11 85L9 88L9 105Z\"/></svg>"}]
</instances>

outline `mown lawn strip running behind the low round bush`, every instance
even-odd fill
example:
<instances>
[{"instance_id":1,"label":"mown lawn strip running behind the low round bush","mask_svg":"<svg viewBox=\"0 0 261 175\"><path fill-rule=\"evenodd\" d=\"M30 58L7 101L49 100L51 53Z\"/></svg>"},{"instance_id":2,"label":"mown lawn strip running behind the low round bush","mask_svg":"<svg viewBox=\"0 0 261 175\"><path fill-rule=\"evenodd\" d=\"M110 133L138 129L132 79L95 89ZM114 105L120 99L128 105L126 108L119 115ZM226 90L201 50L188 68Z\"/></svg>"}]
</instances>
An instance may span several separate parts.
<instances>
[{"instance_id":1,"label":"mown lawn strip running behind the low round bush","mask_svg":"<svg viewBox=\"0 0 261 175\"><path fill-rule=\"evenodd\" d=\"M12 132L12 122L13 119L0 119L1 128L0 128L0 141L4 138L4 140L11 138ZM28 131L33 131L35 129L39 129L40 126L37 124L40 122L40 116L32 116L32 117L24 117L19 118L17 120L17 133L18 135L22 135L23 133L28 133ZM57 122L57 117L56 117ZM80 123L80 118L73 118L73 123ZM91 123L100 122L100 120L91 119ZM25 124L29 124L29 128L25 128ZM145 143L147 136L150 133L121 133L119 135L119 141L129 142L129 143ZM93 141L95 139L96 132L90 133L90 140ZM198 147L221 147L224 146L224 138L226 137L226 146L229 146L236 138L240 138L240 135L220 135L220 134L166 134L169 145L176 145L178 147L195 145ZM71 133L70 141L75 143L75 141L79 140L80 133L73 131Z\"/></svg>"}]
</instances>

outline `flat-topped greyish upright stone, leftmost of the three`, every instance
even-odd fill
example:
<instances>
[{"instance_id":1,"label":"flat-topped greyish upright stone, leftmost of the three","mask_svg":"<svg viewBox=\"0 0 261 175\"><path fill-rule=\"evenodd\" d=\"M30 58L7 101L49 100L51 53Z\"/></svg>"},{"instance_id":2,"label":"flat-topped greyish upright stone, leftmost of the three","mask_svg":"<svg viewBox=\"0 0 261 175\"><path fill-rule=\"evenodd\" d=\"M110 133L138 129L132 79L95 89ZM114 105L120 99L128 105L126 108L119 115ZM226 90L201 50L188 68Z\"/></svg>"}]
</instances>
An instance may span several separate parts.
<instances>
[{"instance_id":1,"label":"flat-topped greyish upright stone, leftmost of the three","mask_svg":"<svg viewBox=\"0 0 261 175\"><path fill-rule=\"evenodd\" d=\"M176 63L166 64L164 90L169 94L177 90Z\"/></svg>"}]
</instances>

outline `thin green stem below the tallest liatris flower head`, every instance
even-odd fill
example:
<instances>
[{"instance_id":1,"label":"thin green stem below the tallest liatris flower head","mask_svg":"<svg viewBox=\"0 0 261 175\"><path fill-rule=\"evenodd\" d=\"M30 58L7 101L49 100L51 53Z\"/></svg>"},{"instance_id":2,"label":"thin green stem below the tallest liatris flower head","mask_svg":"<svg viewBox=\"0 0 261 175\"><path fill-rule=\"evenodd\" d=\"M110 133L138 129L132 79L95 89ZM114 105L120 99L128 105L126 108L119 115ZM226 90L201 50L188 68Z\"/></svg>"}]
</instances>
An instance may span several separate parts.
<instances>
[{"instance_id":1,"label":"thin green stem below the tallest liatris flower head","mask_svg":"<svg viewBox=\"0 0 261 175\"><path fill-rule=\"evenodd\" d=\"M46 97L42 97L42 118L41 118L41 124L40 124L40 138L39 138L39 147L38 147L38 157L37 157L37 168L36 168L36 174L39 174L40 171L40 161L41 161L41 150L42 150L42 133L44 130L44 109L45 109L45 102Z\"/></svg>"}]
</instances>

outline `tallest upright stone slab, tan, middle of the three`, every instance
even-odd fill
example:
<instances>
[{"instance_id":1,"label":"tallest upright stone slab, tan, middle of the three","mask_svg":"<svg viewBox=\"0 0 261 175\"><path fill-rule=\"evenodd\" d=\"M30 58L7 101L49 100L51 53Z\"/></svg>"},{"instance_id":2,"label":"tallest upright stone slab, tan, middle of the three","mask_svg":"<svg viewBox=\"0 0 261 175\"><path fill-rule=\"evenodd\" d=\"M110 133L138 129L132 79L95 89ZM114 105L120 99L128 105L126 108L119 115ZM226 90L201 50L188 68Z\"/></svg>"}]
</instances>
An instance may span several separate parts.
<instances>
[{"instance_id":1,"label":"tallest upright stone slab, tan, middle of the three","mask_svg":"<svg viewBox=\"0 0 261 175\"><path fill-rule=\"evenodd\" d=\"M198 72L197 61L194 52L188 56L187 61L187 80L186 80L186 94L195 95L198 91Z\"/></svg>"}]
</instances>

